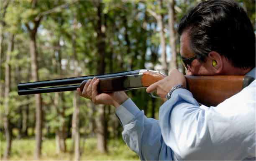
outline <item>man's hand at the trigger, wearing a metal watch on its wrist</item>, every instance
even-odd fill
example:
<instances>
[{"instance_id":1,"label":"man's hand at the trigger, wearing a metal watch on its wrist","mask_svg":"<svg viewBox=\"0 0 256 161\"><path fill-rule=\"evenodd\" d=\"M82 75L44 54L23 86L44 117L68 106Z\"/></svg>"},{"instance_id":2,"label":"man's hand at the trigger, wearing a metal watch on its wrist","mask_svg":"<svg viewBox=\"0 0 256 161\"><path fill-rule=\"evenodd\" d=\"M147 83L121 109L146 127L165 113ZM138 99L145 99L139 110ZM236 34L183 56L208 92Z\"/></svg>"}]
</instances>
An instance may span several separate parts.
<instances>
[{"instance_id":1,"label":"man's hand at the trigger, wearing a metal watch on its wrist","mask_svg":"<svg viewBox=\"0 0 256 161\"><path fill-rule=\"evenodd\" d=\"M185 76L179 72L179 70L174 69L170 72L169 76L161 79L160 81L151 84L147 89L146 92L151 93L157 91L157 95L161 98L161 101L165 101L166 94L170 92L172 87L176 85L183 85L187 88L187 81Z\"/></svg>"}]
</instances>

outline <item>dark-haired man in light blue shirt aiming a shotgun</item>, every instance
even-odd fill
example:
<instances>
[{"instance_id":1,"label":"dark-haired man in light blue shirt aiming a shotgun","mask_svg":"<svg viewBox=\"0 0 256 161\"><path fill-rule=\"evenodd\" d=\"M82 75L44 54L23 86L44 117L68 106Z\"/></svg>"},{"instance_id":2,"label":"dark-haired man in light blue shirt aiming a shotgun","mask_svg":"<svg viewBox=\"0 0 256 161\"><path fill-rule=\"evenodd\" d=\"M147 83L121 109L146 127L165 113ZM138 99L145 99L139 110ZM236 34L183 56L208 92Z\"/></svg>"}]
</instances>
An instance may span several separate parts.
<instances>
[{"instance_id":1,"label":"dark-haired man in light blue shirt aiming a shotgun","mask_svg":"<svg viewBox=\"0 0 256 161\"><path fill-rule=\"evenodd\" d=\"M188 75L255 78L255 34L236 2L201 2L182 18L178 32ZM146 89L168 99L159 121L146 118L124 92L98 94L98 83L94 78L77 90L95 104L117 108L123 139L141 160L255 160L255 80L217 107L199 107L184 75L173 70Z\"/></svg>"}]
</instances>

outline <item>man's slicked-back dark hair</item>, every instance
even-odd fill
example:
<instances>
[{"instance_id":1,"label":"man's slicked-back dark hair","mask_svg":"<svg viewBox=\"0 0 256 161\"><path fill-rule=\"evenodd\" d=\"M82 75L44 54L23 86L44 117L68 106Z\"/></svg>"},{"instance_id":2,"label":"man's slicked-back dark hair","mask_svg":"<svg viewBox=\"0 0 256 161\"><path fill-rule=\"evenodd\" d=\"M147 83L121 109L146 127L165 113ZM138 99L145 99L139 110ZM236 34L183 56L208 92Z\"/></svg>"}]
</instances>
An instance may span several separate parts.
<instances>
[{"instance_id":1,"label":"man's slicked-back dark hair","mask_svg":"<svg viewBox=\"0 0 256 161\"><path fill-rule=\"evenodd\" d=\"M189 50L201 62L210 51L224 55L234 67L255 67L255 34L245 10L233 0L199 3L182 17L178 33L187 31Z\"/></svg>"}]
</instances>

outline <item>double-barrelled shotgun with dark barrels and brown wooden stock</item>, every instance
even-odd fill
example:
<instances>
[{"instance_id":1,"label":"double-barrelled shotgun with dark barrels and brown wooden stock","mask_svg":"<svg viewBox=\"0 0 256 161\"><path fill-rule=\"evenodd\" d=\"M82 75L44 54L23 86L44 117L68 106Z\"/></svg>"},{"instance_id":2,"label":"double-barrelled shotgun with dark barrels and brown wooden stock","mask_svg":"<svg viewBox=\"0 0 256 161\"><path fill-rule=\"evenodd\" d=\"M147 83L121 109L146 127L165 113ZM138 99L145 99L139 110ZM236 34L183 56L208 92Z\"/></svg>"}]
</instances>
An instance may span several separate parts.
<instances>
[{"instance_id":1,"label":"double-barrelled shotgun with dark barrels and brown wooden stock","mask_svg":"<svg viewBox=\"0 0 256 161\"><path fill-rule=\"evenodd\" d=\"M128 72L20 83L18 84L18 94L74 91L78 87L83 90L86 82L93 77L100 79L97 87L98 93L108 93L146 88L166 77L166 74L149 69L140 69ZM187 89L193 94L197 102L206 106L217 106L220 102L240 92L254 80L253 77L229 75L185 75L185 77L187 79ZM151 96L154 97L152 94Z\"/></svg>"}]
</instances>

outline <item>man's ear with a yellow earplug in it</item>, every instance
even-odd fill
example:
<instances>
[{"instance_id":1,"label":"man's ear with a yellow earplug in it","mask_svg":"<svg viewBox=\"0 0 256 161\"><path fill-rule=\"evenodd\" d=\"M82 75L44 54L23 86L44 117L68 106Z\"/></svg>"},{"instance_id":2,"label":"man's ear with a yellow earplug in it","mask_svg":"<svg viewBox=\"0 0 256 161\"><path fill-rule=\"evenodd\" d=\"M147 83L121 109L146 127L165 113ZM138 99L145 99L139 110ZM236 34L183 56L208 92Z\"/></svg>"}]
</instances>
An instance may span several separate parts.
<instances>
[{"instance_id":1,"label":"man's ear with a yellow earplug in it","mask_svg":"<svg viewBox=\"0 0 256 161\"><path fill-rule=\"evenodd\" d=\"M215 74L220 74L223 69L223 60L218 52L209 52L207 62L209 65L208 67L210 67Z\"/></svg>"}]
</instances>

